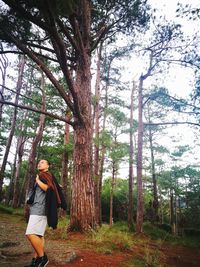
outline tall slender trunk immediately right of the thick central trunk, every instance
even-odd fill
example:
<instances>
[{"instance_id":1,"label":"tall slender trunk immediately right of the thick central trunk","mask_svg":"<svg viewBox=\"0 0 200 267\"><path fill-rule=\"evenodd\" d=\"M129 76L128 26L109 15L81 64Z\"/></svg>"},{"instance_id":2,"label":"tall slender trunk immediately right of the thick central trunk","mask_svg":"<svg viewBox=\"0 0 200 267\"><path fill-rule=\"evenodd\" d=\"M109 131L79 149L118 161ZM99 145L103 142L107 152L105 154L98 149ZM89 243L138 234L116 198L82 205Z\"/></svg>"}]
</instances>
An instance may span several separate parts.
<instances>
[{"instance_id":1,"label":"tall slender trunk immediately right of the thick central trunk","mask_svg":"<svg viewBox=\"0 0 200 267\"><path fill-rule=\"evenodd\" d=\"M100 44L98 51L97 60L97 77L95 85L95 107L94 107L94 118L95 118L95 144L94 144L94 196L95 196L95 211L96 211L96 222L98 225L101 224L101 189L100 189L100 175L99 175L99 110L100 110L100 62L101 62L101 51L102 43Z\"/></svg>"}]
</instances>

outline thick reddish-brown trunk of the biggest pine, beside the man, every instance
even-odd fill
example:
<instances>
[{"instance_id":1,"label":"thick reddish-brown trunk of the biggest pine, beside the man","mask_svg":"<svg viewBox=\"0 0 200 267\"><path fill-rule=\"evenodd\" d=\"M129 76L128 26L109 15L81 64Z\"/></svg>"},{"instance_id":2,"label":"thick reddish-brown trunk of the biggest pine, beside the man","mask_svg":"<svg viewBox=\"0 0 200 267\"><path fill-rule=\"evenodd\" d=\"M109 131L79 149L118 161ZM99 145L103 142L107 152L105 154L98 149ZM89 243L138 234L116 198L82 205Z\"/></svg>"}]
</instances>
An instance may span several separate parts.
<instances>
[{"instance_id":1,"label":"thick reddish-brown trunk of the biggest pine, beside the man","mask_svg":"<svg viewBox=\"0 0 200 267\"><path fill-rule=\"evenodd\" d=\"M72 203L68 230L88 231L96 226L94 205L94 181L92 180L92 113L91 113L91 55L90 1L80 2L82 23L81 54L77 61L75 90L81 118L74 126L74 174L72 180Z\"/></svg>"}]
</instances>

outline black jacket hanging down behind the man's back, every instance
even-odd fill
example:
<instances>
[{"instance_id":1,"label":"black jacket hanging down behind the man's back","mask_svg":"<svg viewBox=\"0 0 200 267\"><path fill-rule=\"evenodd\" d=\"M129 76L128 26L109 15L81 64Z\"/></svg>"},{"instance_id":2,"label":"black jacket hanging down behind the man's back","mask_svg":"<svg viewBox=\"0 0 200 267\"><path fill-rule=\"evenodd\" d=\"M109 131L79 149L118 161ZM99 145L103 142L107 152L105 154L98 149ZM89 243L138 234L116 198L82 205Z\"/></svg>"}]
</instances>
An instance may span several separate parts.
<instances>
[{"instance_id":1,"label":"black jacket hanging down behind the man's back","mask_svg":"<svg viewBox=\"0 0 200 267\"><path fill-rule=\"evenodd\" d=\"M61 204L59 205L57 202L56 194L52 188L48 188L46 191L46 214L47 214L47 223L49 227L53 229L57 228L58 224L58 208L67 209L66 200L64 194L62 192L62 188L58 184L56 178L53 176L54 183L57 187Z\"/></svg>"}]
</instances>

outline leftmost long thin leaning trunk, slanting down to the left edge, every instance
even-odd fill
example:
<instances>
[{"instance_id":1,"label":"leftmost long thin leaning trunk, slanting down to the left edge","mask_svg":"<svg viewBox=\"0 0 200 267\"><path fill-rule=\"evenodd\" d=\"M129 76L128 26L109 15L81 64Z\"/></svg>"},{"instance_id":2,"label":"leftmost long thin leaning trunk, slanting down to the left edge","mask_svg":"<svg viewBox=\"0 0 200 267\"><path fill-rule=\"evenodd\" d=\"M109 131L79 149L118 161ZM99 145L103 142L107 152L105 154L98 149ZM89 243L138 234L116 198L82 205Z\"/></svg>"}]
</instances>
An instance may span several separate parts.
<instances>
[{"instance_id":1,"label":"leftmost long thin leaning trunk, slanting down to the left edge","mask_svg":"<svg viewBox=\"0 0 200 267\"><path fill-rule=\"evenodd\" d=\"M23 73L24 73L24 66L25 66L25 57L21 56L19 59L19 71L18 71L18 80L17 80L17 86L16 86L16 97L15 97L15 104L18 104L19 101L19 94L22 88L22 78L23 78ZM3 158L3 162L1 165L1 170L0 170L0 200L2 199L2 187L3 187L3 179L4 179L4 173L6 169L6 164L8 160L8 155L13 139L13 135L15 132L15 127L16 127L16 120L17 120L17 107L14 108L14 113L12 117L12 123L11 123L11 129L10 133L7 139L6 143L6 150Z\"/></svg>"}]
</instances>

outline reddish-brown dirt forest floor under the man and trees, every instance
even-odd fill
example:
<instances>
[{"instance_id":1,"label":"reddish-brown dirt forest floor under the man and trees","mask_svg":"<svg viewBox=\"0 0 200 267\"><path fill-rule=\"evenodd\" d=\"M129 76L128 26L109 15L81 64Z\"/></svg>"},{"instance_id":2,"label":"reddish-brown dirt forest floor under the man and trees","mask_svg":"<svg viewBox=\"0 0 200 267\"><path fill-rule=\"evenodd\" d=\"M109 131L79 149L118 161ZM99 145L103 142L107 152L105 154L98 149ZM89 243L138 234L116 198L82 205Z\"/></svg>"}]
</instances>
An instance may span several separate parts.
<instances>
[{"instance_id":1,"label":"reddish-brown dirt forest floor under the man and trees","mask_svg":"<svg viewBox=\"0 0 200 267\"><path fill-rule=\"evenodd\" d=\"M0 266L23 267L32 258L32 249L25 238L26 223L22 216L0 212ZM57 235L57 237L56 237ZM98 244L79 233L60 238L59 229L47 231L48 267L198 267L200 249L158 242L133 235L133 247L98 252ZM120 244L120 243L119 243Z\"/></svg>"}]
</instances>

